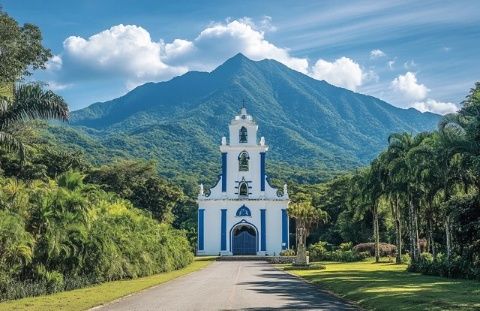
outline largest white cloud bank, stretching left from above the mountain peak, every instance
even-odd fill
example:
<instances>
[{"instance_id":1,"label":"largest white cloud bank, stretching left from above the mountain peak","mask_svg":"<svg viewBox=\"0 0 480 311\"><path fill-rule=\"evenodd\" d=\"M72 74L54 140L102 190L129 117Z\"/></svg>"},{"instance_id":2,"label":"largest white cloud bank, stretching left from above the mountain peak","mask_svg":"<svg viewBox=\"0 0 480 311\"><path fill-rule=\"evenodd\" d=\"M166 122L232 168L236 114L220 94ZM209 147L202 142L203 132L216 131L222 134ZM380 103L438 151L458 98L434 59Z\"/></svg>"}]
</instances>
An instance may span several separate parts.
<instances>
[{"instance_id":1,"label":"largest white cloud bank, stretching left from above the mountain peak","mask_svg":"<svg viewBox=\"0 0 480 311\"><path fill-rule=\"evenodd\" d=\"M70 71L64 76L123 78L131 89L147 81L168 80L188 70L213 70L239 52L253 60L275 59L307 73L306 58L292 57L287 49L265 39L265 31L274 29L268 16L258 26L243 18L211 24L193 41L175 39L165 43L152 40L142 27L120 24L89 38L68 37L63 43L63 59L65 71ZM62 58L55 56L52 68L57 63L61 67Z\"/></svg>"}]
</instances>

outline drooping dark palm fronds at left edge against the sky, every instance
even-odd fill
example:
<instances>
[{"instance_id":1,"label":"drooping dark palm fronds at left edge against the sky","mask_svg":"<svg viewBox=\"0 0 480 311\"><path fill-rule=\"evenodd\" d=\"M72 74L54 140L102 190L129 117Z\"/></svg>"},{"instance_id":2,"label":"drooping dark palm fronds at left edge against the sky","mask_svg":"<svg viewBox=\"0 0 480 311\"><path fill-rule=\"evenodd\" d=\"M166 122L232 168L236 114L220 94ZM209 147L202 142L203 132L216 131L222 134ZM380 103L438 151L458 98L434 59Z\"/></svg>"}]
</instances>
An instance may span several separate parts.
<instances>
[{"instance_id":1,"label":"drooping dark palm fronds at left edge against the sky","mask_svg":"<svg viewBox=\"0 0 480 311\"><path fill-rule=\"evenodd\" d=\"M0 96L0 147L16 151L23 162L25 146L14 128L35 119L68 120L68 106L59 95L39 84L22 84L14 89L13 97Z\"/></svg>"}]
</instances>

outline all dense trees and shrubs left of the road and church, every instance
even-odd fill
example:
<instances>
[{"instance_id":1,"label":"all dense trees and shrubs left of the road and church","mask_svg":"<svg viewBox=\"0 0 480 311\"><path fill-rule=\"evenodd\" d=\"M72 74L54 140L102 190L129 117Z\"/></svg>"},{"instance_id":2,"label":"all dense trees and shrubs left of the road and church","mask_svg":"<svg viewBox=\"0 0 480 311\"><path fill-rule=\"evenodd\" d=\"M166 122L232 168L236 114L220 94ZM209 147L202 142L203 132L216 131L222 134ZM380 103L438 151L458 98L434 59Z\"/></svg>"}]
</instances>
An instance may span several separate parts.
<instances>
[{"instance_id":1,"label":"all dense trees and shrubs left of the road and church","mask_svg":"<svg viewBox=\"0 0 480 311\"><path fill-rule=\"evenodd\" d=\"M65 121L69 111L41 84L20 83L51 56L38 28L0 10L0 51L0 300L192 262L185 231L172 226L184 195L153 165L95 168L39 135L39 119Z\"/></svg>"}]
</instances>

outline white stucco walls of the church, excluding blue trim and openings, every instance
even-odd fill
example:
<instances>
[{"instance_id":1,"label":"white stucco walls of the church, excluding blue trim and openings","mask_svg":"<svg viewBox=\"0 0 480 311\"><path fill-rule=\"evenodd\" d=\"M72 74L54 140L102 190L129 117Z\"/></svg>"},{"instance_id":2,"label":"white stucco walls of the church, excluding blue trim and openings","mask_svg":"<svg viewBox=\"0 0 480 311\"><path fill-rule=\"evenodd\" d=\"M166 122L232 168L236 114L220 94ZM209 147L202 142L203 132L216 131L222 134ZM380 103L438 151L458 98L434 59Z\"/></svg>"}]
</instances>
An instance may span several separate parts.
<instances>
[{"instance_id":1,"label":"white stucco walls of the church, excluding blue trim and openings","mask_svg":"<svg viewBox=\"0 0 480 311\"><path fill-rule=\"evenodd\" d=\"M239 142L239 131L245 127L248 131L248 141ZM226 138L222 139L220 152L226 154L226 189L222 191L221 176L219 182L212 189L206 191L201 187L198 196L198 208L204 210L203 237L204 248L199 250L199 254L205 255L231 255L231 230L239 222L245 221L252 224L257 229L257 254L258 255L278 255L282 250L282 209L288 207L288 193L286 186L283 191L277 193L277 189L272 188L266 181L266 176L262 176L261 171L261 153L268 151L265 140L257 139L258 126L253 118L246 113L243 108L240 115L236 116L230 126L229 142ZM239 154L243 151L249 154L249 170L239 170ZM267 159L268 157L266 157ZM265 189L261 189L262 178L265 179ZM245 180L249 185L248 197L240 197L238 185ZM245 205L251 211L251 217L237 217L236 212ZM221 210L226 209L226 251L221 250ZM261 249L261 210L265 209L265 236L266 251ZM287 245L288 247L288 219L287 219Z\"/></svg>"}]
</instances>

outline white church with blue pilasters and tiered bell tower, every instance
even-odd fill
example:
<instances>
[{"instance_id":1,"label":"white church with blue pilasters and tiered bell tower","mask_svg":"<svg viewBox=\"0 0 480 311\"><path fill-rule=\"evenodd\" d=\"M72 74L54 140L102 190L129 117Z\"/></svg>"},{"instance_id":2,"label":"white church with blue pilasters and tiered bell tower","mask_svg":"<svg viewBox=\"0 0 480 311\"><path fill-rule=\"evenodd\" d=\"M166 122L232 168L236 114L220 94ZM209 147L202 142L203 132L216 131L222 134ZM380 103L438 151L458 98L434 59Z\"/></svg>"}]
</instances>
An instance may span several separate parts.
<instances>
[{"instance_id":1,"label":"white church with blue pilasters and tiered bell tower","mask_svg":"<svg viewBox=\"0 0 480 311\"><path fill-rule=\"evenodd\" d=\"M222 173L198 195L198 255L278 255L289 245L288 193L265 175L268 146L242 108L222 137Z\"/></svg>"}]
</instances>

